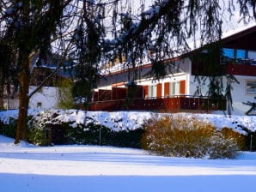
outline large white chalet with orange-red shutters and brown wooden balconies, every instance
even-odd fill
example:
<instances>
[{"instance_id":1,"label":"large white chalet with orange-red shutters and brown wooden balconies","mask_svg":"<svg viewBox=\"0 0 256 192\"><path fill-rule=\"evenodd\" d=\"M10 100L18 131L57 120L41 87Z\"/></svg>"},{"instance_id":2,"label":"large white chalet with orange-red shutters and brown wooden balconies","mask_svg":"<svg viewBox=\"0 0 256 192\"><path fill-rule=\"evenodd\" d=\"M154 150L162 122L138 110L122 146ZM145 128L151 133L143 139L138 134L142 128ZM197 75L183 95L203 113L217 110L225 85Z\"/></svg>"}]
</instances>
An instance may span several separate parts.
<instances>
[{"instance_id":1,"label":"large white chalet with orange-red shutters and brown wooden balconies","mask_svg":"<svg viewBox=\"0 0 256 192\"><path fill-rule=\"evenodd\" d=\"M212 59L217 61L219 74L234 75L240 82L233 84L233 114L244 115L250 110L250 105L244 103L256 102L256 26L230 33L218 45ZM165 59L166 65L176 69L167 71L168 75L160 81L153 81L150 73L152 65L149 62L136 69L139 78L132 77L135 69L121 69L121 64L113 66L94 90L90 110L226 111L225 98L206 97L208 87L194 81L196 76L209 75L205 65L210 63L198 60L205 52L206 46L179 57ZM128 77L137 85L130 103L127 94L132 84ZM196 97L198 86L202 89ZM252 110L250 114L256 114L256 111Z\"/></svg>"}]
</instances>

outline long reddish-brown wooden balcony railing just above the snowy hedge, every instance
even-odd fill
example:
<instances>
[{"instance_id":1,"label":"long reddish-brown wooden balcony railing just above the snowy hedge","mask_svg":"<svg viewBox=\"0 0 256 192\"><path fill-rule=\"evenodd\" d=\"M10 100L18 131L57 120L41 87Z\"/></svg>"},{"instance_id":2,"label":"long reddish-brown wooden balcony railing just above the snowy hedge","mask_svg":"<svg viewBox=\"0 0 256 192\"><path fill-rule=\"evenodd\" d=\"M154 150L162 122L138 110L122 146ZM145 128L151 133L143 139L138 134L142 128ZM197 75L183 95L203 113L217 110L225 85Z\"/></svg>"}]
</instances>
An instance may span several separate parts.
<instances>
[{"instance_id":1,"label":"long reddish-brown wooden balcony railing just above the snowy hedge","mask_svg":"<svg viewBox=\"0 0 256 192\"><path fill-rule=\"evenodd\" d=\"M172 98L152 99L116 99L95 101L90 111L225 111L226 99L206 97L176 96Z\"/></svg>"}]
</instances>

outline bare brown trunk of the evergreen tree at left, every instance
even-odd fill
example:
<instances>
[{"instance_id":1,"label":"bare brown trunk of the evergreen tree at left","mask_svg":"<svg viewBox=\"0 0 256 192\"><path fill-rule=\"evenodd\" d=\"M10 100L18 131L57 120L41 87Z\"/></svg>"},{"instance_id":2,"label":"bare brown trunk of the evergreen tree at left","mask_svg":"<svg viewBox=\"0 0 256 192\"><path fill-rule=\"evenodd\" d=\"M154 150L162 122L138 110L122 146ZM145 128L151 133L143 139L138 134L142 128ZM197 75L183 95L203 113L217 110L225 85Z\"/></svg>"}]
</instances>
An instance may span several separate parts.
<instances>
[{"instance_id":1,"label":"bare brown trunk of the evergreen tree at left","mask_svg":"<svg viewBox=\"0 0 256 192\"><path fill-rule=\"evenodd\" d=\"M16 129L15 144L20 141L26 141L26 129L27 129L27 109L29 103L29 59L24 63L23 69L20 75L20 93L19 93L19 116Z\"/></svg>"}]
</instances>

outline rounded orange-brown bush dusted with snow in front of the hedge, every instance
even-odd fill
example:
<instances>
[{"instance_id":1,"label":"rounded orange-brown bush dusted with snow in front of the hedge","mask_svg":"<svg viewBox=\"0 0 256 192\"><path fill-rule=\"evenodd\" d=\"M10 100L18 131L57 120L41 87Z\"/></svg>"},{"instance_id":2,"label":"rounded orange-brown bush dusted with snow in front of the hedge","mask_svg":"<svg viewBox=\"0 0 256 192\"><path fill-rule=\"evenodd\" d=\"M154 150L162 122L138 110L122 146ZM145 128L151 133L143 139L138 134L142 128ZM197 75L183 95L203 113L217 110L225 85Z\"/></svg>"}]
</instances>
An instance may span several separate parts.
<instances>
[{"instance_id":1,"label":"rounded orange-brown bush dusted with snow in front of the hedge","mask_svg":"<svg viewBox=\"0 0 256 192\"><path fill-rule=\"evenodd\" d=\"M152 118L145 125L143 147L166 156L210 159L234 158L239 148L236 139L210 123L176 116Z\"/></svg>"}]
</instances>

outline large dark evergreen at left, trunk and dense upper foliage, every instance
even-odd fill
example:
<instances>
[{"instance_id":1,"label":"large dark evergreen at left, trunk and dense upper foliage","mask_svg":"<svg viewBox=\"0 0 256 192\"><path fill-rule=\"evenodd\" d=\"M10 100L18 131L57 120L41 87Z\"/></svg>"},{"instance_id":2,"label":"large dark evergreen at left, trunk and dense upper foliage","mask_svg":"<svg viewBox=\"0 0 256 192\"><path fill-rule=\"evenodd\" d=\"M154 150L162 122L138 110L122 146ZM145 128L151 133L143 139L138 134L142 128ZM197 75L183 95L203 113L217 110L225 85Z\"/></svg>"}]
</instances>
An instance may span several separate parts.
<instances>
[{"instance_id":1,"label":"large dark evergreen at left, trunk and dense upper foliage","mask_svg":"<svg viewBox=\"0 0 256 192\"><path fill-rule=\"evenodd\" d=\"M1 1L1 5L1 42L12 45L16 56L13 63L15 79L19 82L19 117L15 137L15 143L18 143L26 139L27 108L31 97L28 90L34 67L32 60L37 53L41 60L50 52L52 35L57 32L65 4L64 1L7 0Z\"/></svg>"}]
</instances>

